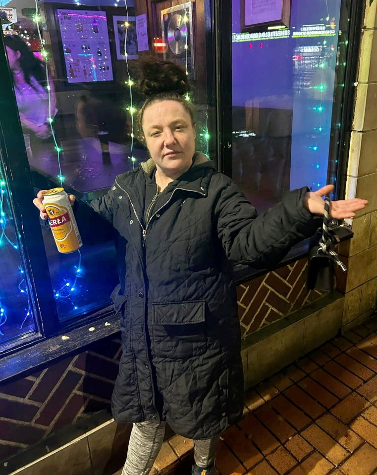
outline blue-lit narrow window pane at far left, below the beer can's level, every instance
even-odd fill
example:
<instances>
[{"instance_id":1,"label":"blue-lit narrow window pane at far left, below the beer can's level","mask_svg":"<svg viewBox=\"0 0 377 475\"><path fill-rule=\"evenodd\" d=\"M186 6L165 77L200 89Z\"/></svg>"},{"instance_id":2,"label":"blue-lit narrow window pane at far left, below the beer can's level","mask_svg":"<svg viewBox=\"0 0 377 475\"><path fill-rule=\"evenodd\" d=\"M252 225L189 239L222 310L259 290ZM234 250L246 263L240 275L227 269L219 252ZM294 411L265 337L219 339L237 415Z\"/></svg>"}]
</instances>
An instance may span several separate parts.
<instances>
[{"instance_id":1,"label":"blue-lit narrow window pane at far left, below the beer can's level","mask_svg":"<svg viewBox=\"0 0 377 475\"><path fill-rule=\"evenodd\" d=\"M0 347L36 331L35 309L0 157ZM5 270L5 272L4 272Z\"/></svg>"}]
</instances>

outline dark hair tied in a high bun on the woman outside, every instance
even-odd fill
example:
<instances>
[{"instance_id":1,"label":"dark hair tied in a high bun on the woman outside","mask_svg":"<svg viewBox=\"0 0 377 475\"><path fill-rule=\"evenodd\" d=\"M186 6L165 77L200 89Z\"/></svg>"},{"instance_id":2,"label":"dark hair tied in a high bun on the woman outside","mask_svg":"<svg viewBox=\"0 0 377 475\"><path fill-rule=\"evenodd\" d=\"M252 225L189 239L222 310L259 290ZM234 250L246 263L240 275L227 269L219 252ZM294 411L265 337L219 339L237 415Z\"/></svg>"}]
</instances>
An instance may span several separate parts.
<instances>
[{"instance_id":1,"label":"dark hair tied in a high bun on the woman outside","mask_svg":"<svg viewBox=\"0 0 377 475\"><path fill-rule=\"evenodd\" d=\"M195 125L194 112L187 95L190 92L186 70L172 61L156 61L149 59L138 61L136 68L139 72L137 88L146 95L143 105L136 116L136 134L144 142L143 115L147 107L162 100L175 100L182 104Z\"/></svg>"}]
</instances>

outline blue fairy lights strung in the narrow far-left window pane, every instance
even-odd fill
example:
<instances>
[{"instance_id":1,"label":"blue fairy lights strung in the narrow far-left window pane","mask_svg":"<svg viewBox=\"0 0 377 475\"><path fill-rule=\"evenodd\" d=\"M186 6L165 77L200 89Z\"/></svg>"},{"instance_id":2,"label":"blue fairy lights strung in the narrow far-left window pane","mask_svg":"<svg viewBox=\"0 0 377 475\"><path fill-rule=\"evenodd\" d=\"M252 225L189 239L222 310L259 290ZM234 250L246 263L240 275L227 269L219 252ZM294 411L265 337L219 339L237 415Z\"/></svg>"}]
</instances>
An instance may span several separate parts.
<instances>
[{"instance_id":1,"label":"blue fairy lights strung in the narrow far-left window pane","mask_svg":"<svg viewBox=\"0 0 377 475\"><path fill-rule=\"evenodd\" d=\"M7 217L7 213L10 214L9 203L7 204L7 213L5 212L5 196L6 195L7 195L6 183L5 183L3 172L0 168L0 229L1 229L0 247L2 247L4 243L7 243L9 245L9 249L14 251L14 250L19 250L19 246L7 235L7 229L10 226L10 224L8 223L10 223L11 217L9 217L9 219ZM24 323L26 322L28 317L31 315L31 303L30 303L29 291L26 286L26 281L24 277L25 272L22 269L22 266L19 266L18 270L19 270L20 275L22 276L22 280L18 284L18 290L22 296L24 297L26 296L27 298L27 305L25 307L25 317L20 326L20 328L22 329ZM5 301L4 298L1 299L1 296L0 296L0 328L6 323L8 319L7 312L6 312L6 305L4 305L3 303L4 301ZM0 330L0 336L4 336L4 333L1 330Z\"/></svg>"}]
</instances>

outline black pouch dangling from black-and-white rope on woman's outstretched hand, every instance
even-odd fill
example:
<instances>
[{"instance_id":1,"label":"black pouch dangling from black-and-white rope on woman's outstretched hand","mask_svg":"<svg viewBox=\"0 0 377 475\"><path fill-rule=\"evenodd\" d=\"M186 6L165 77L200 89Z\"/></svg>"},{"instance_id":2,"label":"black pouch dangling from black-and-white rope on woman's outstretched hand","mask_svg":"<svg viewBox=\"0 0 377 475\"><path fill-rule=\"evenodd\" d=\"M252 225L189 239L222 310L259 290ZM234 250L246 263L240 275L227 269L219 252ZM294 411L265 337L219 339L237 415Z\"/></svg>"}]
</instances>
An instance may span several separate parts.
<instances>
[{"instance_id":1,"label":"black pouch dangling from black-and-white rope on woman's outstretched hand","mask_svg":"<svg viewBox=\"0 0 377 475\"><path fill-rule=\"evenodd\" d=\"M339 259L333 249L333 243L338 243L339 238L329 230L330 200L324 199L324 214L322 237L317 246L309 252L307 286L310 290L323 290L332 292L335 286L335 265L342 271L347 268Z\"/></svg>"}]
</instances>

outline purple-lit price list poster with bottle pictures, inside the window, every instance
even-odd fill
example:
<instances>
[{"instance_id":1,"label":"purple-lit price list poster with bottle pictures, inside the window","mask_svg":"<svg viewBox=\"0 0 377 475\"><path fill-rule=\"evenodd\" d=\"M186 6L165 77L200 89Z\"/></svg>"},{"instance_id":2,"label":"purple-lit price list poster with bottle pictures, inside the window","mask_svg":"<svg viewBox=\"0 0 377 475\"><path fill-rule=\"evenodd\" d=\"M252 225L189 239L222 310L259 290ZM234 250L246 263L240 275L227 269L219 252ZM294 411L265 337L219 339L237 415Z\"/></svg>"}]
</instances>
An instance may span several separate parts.
<instances>
[{"instance_id":1,"label":"purple-lit price list poster with bottle pictures, inside the window","mask_svg":"<svg viewBox=\"0 0 377 475\"><path fill-rule=\"evenodd\" d=\"M104 11L57 10L69 83L112 81Z\"/></svg>"}]
</instances>

